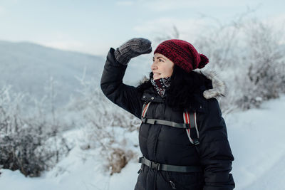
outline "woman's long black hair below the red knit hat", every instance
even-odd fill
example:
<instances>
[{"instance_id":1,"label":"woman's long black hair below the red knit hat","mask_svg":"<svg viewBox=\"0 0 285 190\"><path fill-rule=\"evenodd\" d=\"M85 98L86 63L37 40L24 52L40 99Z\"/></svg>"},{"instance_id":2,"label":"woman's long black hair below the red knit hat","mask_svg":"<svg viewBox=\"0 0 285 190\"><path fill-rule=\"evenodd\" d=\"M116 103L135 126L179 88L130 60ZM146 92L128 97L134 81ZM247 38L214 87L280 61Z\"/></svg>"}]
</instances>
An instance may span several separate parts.
<instances>
[{"instance_id":1,"label":"woman's long black hair below the red knit hat","mask_svg":"<svg viewBox=\"0 0 285 190\"><path fill-rule=\"evenodd\" d=\"M150 79L153 73L150 73ZM143 92L152 86L150 80L138 86L138 90ZM173 73L170 78L170 88L167 89L165 101L174 110L189 111L197 110L200 105L201 95L204 90L212 88L212 80L209 80L201 73L191 71L187 73L177 65L174 65Z\"/></svg>"}]
</instances>

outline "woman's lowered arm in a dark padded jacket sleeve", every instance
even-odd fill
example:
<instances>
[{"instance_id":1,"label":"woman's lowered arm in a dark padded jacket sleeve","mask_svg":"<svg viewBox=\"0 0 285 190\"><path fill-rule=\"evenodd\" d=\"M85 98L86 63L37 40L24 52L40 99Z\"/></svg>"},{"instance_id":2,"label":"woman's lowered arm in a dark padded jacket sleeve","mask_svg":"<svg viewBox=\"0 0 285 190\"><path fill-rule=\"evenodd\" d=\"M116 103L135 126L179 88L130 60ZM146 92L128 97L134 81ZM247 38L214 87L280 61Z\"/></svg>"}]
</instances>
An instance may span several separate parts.
<instances>
[{"instance_id":1,"label":"woman's lowered arm in a dark padded jacket sleeve","mask_svg":"<svg viewBox=\"0 0 285 190\"><path fill-rule=\"evenodd\" d=\"M229 172L234 157L227 139L226 124L219 102L215 98L207 101L208 111L202 116L199 129L199 151L205 182L203 190L232 190L235 184Z\"/></svg>"}]
</instances>

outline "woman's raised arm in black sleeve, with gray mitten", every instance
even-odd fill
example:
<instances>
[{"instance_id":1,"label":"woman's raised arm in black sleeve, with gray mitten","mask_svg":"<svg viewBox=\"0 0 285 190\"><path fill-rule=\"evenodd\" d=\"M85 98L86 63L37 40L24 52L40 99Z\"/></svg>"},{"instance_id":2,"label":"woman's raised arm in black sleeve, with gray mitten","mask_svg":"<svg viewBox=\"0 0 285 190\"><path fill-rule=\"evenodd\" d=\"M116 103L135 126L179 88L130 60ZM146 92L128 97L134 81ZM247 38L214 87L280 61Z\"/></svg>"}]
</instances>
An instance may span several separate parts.
<instances>
[{"instance_id":1,"label":"woman's raised arm in black sleeve, with gray mitten","mask_svg":"<svg viewBox=\"0 0 285 190\"><path fill-rule=\"evenodd\" d=\"M125 85L123 77L130 59L150 53L150 44L146 39L133 38L116 50L110 48L100 81L101 90L109 100L138 118L142 110L141 94L137 88Z\"/></svg>"}]
</instances>

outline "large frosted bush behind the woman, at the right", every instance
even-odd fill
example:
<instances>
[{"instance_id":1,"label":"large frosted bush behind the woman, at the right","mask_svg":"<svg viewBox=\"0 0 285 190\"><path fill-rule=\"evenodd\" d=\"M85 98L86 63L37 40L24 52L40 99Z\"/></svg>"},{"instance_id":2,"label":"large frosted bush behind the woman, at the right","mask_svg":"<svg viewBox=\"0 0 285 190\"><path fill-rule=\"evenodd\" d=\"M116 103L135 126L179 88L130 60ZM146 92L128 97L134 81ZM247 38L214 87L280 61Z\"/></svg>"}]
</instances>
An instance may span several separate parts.
<instances>
[{"instance_id":1,"label":"large frosted bush behind the woman, at the right","mask_svg":"<svg viewBox=\"0 0 285 190\"><path fill-rule=\"evenodd\" d=\"M216 70L227 84L224 112L259 107L285 92L283 31L244 15L197 37L194 45L210 61L204 69Z\"/></svg>"}]
</instances>

